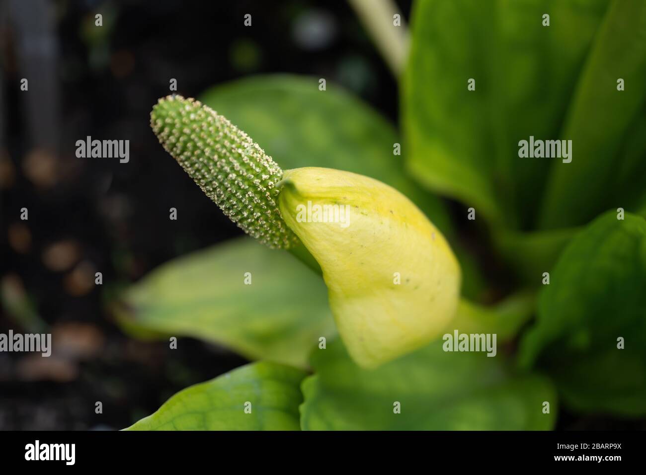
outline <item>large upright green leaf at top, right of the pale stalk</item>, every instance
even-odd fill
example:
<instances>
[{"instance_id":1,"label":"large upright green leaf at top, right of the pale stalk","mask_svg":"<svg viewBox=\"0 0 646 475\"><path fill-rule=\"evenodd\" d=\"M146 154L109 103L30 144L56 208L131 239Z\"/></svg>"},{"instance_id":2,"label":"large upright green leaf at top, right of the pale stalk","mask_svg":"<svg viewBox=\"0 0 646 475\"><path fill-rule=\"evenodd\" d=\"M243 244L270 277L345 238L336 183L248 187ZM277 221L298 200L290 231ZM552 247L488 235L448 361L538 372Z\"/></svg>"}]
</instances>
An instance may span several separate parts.
<instances>
[{"instance_id":1,"label":"large upright green leaf at top, right of the pale stalk","mask_svg":"<svg viewBox=\"0 0 646 475\"><path fill-rule=\"evenodd\" d=\"M518 142L558 138L608 1L418 1L402 82L413 173L489 218L529 227L552 159L519 158Z\"/></svg>"}]
</instances>

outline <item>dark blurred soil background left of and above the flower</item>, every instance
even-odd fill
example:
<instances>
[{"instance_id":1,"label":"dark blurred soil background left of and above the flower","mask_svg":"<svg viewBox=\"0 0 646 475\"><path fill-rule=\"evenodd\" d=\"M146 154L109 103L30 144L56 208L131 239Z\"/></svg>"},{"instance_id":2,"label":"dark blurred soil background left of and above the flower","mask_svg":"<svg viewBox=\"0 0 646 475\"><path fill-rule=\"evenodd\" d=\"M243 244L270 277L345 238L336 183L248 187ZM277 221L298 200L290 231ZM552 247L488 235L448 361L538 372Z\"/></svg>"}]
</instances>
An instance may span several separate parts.
<instances>
[{"instance_id":1,"label":"dark blurred soil background left of and above the flower","mask_svg":"<svg viewBox=\"0 0 646 475\"><path fill-rule=\"evenodd\" d=\"M127 427L245 362L191 339L172 352L130 339L106 309L162 262L241 233L149 127L169 79L198 96L249 74L310 74L397 121L397 83L343 1L0 0L0 67L0 332L52 332L63 348L0 353L0 430ZM130 162L76 158L88 135L130 140ZM558 427L636 425L561 414Z\"/></svg>"}]
</instances>

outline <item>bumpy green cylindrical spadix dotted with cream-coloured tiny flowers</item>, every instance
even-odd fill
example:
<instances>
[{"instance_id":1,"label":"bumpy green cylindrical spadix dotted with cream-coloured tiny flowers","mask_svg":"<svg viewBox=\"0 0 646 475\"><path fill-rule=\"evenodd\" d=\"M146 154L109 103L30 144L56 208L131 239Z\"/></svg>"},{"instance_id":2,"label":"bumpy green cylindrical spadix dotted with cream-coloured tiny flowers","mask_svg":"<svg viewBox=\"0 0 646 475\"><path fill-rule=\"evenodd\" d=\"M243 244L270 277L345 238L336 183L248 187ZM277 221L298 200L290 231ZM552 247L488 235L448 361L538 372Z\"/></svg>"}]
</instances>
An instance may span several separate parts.
<instances>
[{"instance_id":1,"label":"bumpy green cylindrical spadix dotted with cream-coloured tiny flowers","mask_svg":"<svg viewBox=\"0 0 646 475\"><path fill-rule=\"evenodd\" d=\"M167 96L152 108L151 127L225 215L271 248L289 249L298 238L280 216L276 182L282 170L244 132L192 98Z\"/></svg>"}]
</instances>

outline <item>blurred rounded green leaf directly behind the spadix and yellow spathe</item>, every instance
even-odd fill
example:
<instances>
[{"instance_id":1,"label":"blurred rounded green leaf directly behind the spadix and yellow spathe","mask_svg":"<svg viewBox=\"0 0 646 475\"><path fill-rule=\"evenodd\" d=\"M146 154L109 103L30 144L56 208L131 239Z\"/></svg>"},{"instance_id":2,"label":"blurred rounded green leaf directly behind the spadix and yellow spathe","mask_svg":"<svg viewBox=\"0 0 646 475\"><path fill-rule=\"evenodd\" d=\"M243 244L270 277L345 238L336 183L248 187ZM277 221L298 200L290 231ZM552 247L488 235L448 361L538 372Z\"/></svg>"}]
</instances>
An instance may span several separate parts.
<instances>
[{"instance_id":1,"label":"blurred rounded green leaf directly behind the spadix and yellow spathe","mask_svg":"<svg viewBox=\"0 0 646 475\"><path fill-rule=\"evenodd\" d=\"M200 100L253 137L282 169L327 167L376 178L450 235L443 204L412 182L402 156L393 155L401 142L393 125L339 86L328 81L322 91L317 78L256 76L213 87Z\"/></svg>"}]
</instances>

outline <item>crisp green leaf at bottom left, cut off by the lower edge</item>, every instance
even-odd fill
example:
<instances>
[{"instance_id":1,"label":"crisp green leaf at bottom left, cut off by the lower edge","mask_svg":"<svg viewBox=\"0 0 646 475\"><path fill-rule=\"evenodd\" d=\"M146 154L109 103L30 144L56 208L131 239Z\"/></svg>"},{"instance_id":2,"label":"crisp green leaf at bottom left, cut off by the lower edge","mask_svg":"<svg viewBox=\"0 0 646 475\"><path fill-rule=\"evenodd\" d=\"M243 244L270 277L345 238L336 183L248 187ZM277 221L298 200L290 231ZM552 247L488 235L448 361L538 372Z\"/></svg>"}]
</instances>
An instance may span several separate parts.
<instances>
[{"instance_id":1,"label":"crisp green leaf at bottom left, cut off by the lower edge","mask_svg":"<svg viewBox=\"0 0 646 475\"><path fill-rule=\"evenodd\" d=\"M298 430L305 375L267 361L247 364L178 392L125 430Z\"/></svg>"}]
</instances>

